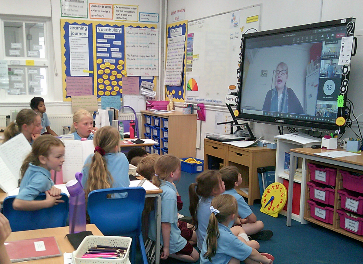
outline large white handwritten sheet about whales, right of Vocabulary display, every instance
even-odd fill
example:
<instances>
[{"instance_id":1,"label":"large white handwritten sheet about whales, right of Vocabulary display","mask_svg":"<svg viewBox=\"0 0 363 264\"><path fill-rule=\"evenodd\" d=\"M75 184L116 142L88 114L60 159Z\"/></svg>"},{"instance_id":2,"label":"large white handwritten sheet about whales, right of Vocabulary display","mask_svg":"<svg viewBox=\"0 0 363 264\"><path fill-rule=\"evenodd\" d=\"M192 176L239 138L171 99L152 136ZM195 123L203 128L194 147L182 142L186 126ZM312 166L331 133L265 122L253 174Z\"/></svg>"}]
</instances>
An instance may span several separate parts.
<instances>
[{"instance_id":1,"label":"large white handwritten sheet about whales, right of Vocabulary display","mask_svg":"<svg viewBox=\"0 0 363 264\"><path fill-rule=\"evenodd\" d=\"M128 76L159 76L159 29L126 28Z\"/></svg>"}]
</instances>

